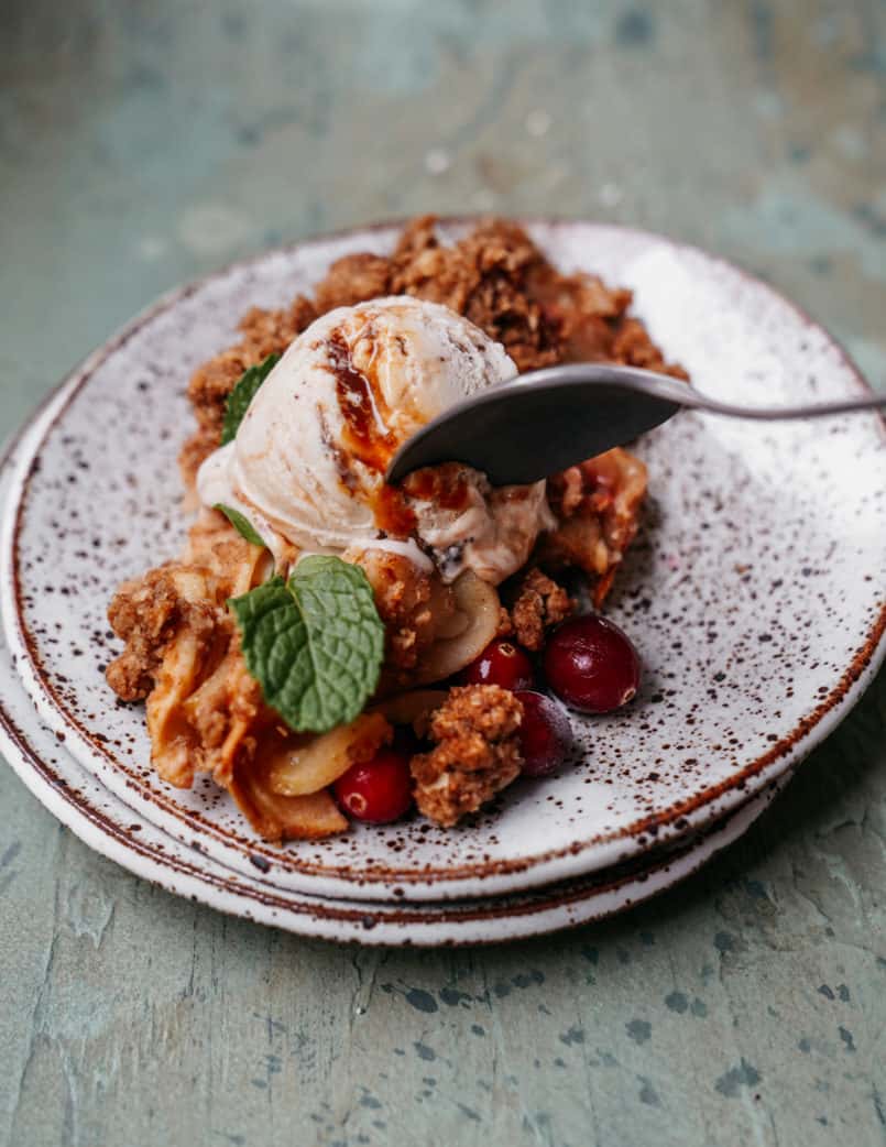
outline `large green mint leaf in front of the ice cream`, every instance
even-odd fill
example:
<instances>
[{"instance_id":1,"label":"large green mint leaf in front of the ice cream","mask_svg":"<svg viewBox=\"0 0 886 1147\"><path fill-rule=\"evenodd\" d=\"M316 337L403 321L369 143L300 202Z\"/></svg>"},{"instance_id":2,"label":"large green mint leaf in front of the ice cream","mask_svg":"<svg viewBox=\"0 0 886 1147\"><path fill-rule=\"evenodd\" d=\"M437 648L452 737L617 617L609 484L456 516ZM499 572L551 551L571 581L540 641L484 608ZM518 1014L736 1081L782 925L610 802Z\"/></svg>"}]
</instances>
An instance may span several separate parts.
<instances>
[{"instance_id":1,"label":"large green mint leaf in front of the ice cream","mask_svg":"<svg viewBox=\"0 0 886 1147\"><path fill-rule=\"evenodd\" d=\"M233 598L246 669L298 733L326 733L362 712L378 684L384 625L359 565L314 554Z\"/></svg>"}]
</instances>

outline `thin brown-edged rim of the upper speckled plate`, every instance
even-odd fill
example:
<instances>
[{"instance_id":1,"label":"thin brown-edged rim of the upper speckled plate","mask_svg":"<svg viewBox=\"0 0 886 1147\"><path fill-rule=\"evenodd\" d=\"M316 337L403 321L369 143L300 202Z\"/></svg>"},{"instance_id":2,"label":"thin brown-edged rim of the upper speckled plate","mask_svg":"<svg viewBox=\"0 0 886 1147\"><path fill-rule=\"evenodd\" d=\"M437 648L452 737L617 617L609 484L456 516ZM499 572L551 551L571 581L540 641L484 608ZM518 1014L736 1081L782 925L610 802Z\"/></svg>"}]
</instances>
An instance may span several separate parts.
<instances>
[{"instance_id":1,"label":"thin brown-edged rim of the upper speckled plate","mask_svg":"<svg viewBox=\"0 0 886 1147\"><path fill-rule=\"evenodd\" d=\"M478 221L479 218L480 217L477 216L440 217L439 223L444 227L464 227L469 226L471 223ZM703 248L695 247L693 244L683 243L673 240L667 235L644 231L642 228L625 227L607 223L595 223L590 219L557 219L554 217L527 216L515 218L516 221L526 226L549 228L582 227L604 233L629 233L640 236L648 242L664 242L672 249L676 248L677 250L691 251L695 255L701 256L708 263L721 265L728 268L731 273L737 273L742 278L750 280L758 289L774 296L779 304L787 306L791 311L793 311L803 326L818 331L826 340L828 344L837 351L845 368L847 382L853 387L853 389L861 389L865 392L873 391L873 388L871 388L867 382L846 352L845 348L842 348L841 344L821 326L821 323L811 319L805 311L802 311L802 309L800 309L791 299L781 295L781 292L775 290L767 282L755 275L752 275L745 268L730 260L712 255ZM16 643L23 647L21 651L25 653L28 656L30 668L33 670L34 674L34 685L39 689L40 694L46 697L48 704L54 709L61 721L68 728L72 728L78 733L78 736L85 742L87 751L93 754L99 752L104 756L108 759L110 767L117 767L112 755L108 754L101 744L93 741L91 734L79 725L76 718L68 713L65 705L58 699L52 685L46 680L45 669L40 663L40 658L31 648L29 634L22 624L19 600L21 592L18 583L18 535L28 479L33 461L36 457L39 455L46 437L58 419L63 416L73 398L88 383L93 373L102 362L104 362L131 337L133 337L152 318L159 313L168 311L179 302L189 297L207 283L221 279L236 270L260 265L269 258L279 256L285 257L287 255L297 253L306 248L327 244L330 241L343 241L348 239L359 240L361 236L366 236L368 234L395 233L397 228L401 226L402 223L394 220L382 221L367 226L348 227L331 234L312 236L311 239L304 241L293 241L290 244L268 249L245 259L234 260L207 275L191 280L181 287L173 288L172 290L164 292L151 304L140 311L121 328L119 328L101 346L96 348L96 350L87 356L79 366L75 367L73 370L71 370L60 383L60 385L50 392L49 396L47 396L41 407L38 408L38 412L36 412L31 419L28 420L16 437L15 442L21 444L22 438L29 429L36 430L38 423L46 423L45 426L40 426L39 438L37 439L30 455L18 462L18 467L16 468L10 481L9 498L3 510L3 572L5 575L11 572L11 579L6 576L3 578L3 621L7 627L7 633L10 639L10 645L13 643L14 638L17 637L21 639ZM879 434L886 438L886 419L884 419L883 415L877 418L877 426L879 428ZM11 554L8 551L7 540L10 541ZM9 569L7 569L7 567L9 567ZM10 582L14 587L15 596L15 610L13 617L9 616L11 611L7 609L8 600L6 593L7 586ZM14 622L14 624L10 625L10 621ZM839 720L841 720L849 709L857 702L857 700L860 700L864 688L869 684L870 679L872 679L880 662L884 660L884 656L886 656L886 642L884 642L885 634L886 602L883 604L879 615L875 617L873 622L870 624L864 643L856 650L840 678L830 689L828 696L820 701L806 717L801 718L790 734L767 749L763 755L746 764L739 772L731 774L729 778L723 779L714 786L703 789L696 796L688 797L679 804L671 805L667 810L650 813L619 829L617 834L598 834L597 836L579 844L573 843L572 845L550 849L528 859L499 860L487 863L486 865L481 863L468 866L454 865L445 871L434 871L430 875L426 869L422 868L395 869L393 872L391 869L377 867L361 869L359 874L360 885L363 889L369 885L362 895L370 898L371 894L377 888L391 884L392 882L395 884L410 884L416 888L422 884L429 887L433 884L434 892L439 895L439 885L441 882L444 884L449 884L452 888L454 882L480 881L485 887L473 895L483 896L484 894L492 891L493 887L496 884L496 877L499 877L499 880L503 880L513 875L519 875L523 881L522 887L526 888L535 884L549 883L555 879L577 875L581 872L588 872L591 868L605 868L612 863L612 857L606 856L605 853L606 846L610 846L612 850L618 848L629 848L632 842L635 842L636 837L643 835L644 833L651 833L653 834L653 837L660 841L667 836L668 833L683 835L698 830L704 824L720 816L726 809L740 806L740 804L748 796L748 782L752 791L762 789L768 780L771 779L769 775L770 773L773 775L779 775L792 765L799 764L799 762L816 744L830 734ZM22 673L22 669L24 669L24 666L18 666L19 674ZM84 765L84 767L88 767L84 760L80 760L80 764ZM719 806L719 803L723 803L722 809ZM177 810L174 814L177 818L182 817L179 810ZM681 825L679 829L675 828L677 825ZM210 830L211 826L206 826L205 822L201 821L201 829ZM218 835L227 844L233 844L233 841L236 840L229 834ZM262 848L262 845L264 842L258 841L250 841L246 844L250 852L261 852L272 861L280 864L282 859L281 851L269 846ZM596 850L598 852L603 852L604 855L599 858L597 864L590 867L587 864L582 866L581 857L589 850ZM284 865L284 867L288 872L301 874L306 880L315 884L319 882L335 884L337 882L340 885L340 892L343 896L355 895L356 888L354 885L354 881L345 879L344 869L336 869L329 866L323 867L309 863L299 864L295 859L295 855L292 852L289 852L287 856L290 863ZM516 885L509 884L508 890L516 890ZM450 895L457 896L464 894L462 891L450 891Z\"/></svg>"}]
</instances>

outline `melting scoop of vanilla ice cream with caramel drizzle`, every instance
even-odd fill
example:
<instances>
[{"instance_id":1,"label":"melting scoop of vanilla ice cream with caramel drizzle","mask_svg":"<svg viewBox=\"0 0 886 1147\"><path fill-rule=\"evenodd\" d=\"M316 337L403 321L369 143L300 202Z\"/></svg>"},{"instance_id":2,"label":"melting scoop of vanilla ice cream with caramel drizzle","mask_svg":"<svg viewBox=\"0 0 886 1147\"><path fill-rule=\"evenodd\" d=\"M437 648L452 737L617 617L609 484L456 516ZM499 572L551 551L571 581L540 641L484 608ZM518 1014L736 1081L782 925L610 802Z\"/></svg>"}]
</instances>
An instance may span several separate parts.
<instances>
[{"instance_id":1,"label":"melting scoop of vanilla ice cream with caramel drizzle","mask_svg":"<svg viewBox=\"0 0 886 1147\"><path fill-rule=\"evenodd\" d=\"M411 538L447 579L471 568L497 583L548 524L544 483L494 491L460 467L458 499L447 501L426 483L394 490L384 475L426 422L516 374L499 343L437 303L330 311L289 346L235 440L204 462L201 501L238 509L279 560L290 547L345 553Z\"/></svg>"}]
</instances>

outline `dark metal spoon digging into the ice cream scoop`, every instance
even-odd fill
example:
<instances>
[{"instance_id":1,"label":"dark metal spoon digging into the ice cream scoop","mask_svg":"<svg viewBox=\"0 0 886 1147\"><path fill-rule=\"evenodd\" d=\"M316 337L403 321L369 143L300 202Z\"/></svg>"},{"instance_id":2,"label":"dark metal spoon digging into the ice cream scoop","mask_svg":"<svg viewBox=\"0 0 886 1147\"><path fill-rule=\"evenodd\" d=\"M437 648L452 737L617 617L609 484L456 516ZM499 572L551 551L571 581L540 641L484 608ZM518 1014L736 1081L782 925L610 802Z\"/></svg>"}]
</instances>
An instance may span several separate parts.
<instances>
[{"instance_id":1,"label":"dark metal spoon digging into the ice cream scoop","mask_svg":"<svg viewBox=\"0 0 886 1147\"><path fill-rule=\"evenodd\" d=\"M667 422L689 406L736 419L822 418L886 407L886 395L803 406L735 406L652 370L580 362L520 375L458 403L394 454L387 481L458 461L495 486L538 482Z\"/></svg>"}]
</instances>

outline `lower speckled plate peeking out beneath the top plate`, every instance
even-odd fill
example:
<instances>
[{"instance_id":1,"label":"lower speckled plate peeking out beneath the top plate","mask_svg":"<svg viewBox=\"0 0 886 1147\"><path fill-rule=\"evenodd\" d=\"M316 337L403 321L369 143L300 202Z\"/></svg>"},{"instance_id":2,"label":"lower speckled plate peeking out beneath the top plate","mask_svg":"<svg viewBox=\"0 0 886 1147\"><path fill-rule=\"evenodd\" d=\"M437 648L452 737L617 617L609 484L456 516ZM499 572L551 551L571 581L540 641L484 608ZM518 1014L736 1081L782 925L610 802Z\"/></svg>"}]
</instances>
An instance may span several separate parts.
<instances>
[{"instance_id":1,"label":"lower speckled plate peeking out beneath the top plate","mask_svg":"<svg viewBox=\"0 0 886 1147\"><path fill-rule=\"evenodd\" d=\"M172 840L109 793L36 715L0 641L0 752L28 788L89 848L177 896L303 936L360 944L439 946L499 943L599 920L696 872L740 836L785 778L691 842L640 857L622 871L550 889L442 904L378 904L275 889Z\"/></svg>"}]
</instances>

